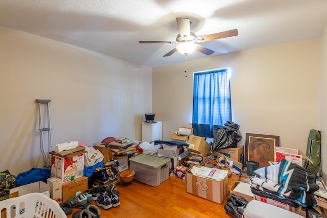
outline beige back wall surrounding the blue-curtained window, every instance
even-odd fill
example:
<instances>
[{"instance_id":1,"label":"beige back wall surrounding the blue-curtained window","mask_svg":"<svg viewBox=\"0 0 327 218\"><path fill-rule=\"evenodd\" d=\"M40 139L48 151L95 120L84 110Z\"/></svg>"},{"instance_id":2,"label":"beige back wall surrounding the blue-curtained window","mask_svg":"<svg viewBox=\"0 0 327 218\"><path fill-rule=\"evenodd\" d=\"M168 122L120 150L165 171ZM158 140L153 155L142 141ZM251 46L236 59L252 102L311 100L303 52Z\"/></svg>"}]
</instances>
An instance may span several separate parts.
<instances>
[{"instance_id":1,"label":"beige back wall surrounding the blue-curtained window","mask_svg":"<svg viewBox=\"0 0 327 218\"><path fill-rule=\"evenodd\" d=\"M309 131L319 128L319 61L320 38L311 38L153 68L152 109L162 136L191 127L192 73L230 67L232 121L242 142L246 133L277 135L282 147L306 152Z\"/></svg>"}]
</instances>

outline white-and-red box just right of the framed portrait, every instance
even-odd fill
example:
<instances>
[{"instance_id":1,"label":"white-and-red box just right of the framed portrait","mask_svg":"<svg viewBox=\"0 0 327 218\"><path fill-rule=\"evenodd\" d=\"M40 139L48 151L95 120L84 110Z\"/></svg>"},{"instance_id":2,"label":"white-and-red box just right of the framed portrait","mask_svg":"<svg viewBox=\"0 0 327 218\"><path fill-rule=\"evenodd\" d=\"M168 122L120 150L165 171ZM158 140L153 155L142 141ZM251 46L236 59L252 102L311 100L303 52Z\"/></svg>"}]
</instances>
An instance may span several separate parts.
<instances>
[{"instance_id":1,"label":"white-and-red box just right of the framed portrait","mask_svg":"<svg viewBox=\"0 0 327 218\"><path fill-rule=\"evenodd\" d=\"M299 166L303 166L303 156L299 155L299 150L275 147L275 162L286 159Z\"/></svg>"}]
</instances>

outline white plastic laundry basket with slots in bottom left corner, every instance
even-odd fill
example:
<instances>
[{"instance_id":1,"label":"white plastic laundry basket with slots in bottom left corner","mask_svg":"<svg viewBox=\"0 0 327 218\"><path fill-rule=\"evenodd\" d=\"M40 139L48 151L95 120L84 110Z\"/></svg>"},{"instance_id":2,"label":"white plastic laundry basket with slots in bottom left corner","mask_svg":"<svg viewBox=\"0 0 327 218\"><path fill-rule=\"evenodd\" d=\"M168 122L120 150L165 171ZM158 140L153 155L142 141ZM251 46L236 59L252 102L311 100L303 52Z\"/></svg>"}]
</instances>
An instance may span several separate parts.
<instances>
[{"instance_id":1,"label":"white plastic laundry basket with slots in bottom left corner","mask_svg":"<svg viewBox=\"0 0 327 218\"><path fill-rule=\"evenodd\" d=\"M42 193L29 193L0 201L1 217L67 217L59 204Z\"/></svg>"}]
</instances>

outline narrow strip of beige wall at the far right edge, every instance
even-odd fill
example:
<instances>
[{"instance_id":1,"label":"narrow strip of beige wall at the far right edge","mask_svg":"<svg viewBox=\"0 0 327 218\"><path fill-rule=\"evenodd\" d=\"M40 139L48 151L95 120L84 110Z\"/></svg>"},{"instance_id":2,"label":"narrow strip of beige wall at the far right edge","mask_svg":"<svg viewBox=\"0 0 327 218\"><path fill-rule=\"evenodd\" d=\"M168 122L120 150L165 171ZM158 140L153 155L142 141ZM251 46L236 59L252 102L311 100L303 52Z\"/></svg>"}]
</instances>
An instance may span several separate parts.
<instances>
[{"instance_id":1,"label":"narrow strip of beige wall at the far right edge","mask_svg":"<svg viewBox=\"0 0 327 218\"><path fill-rule=\"evenodd\" d=\"M323 169L323 179L326 182L327 178L327 26L321 36L321 57L320 57L320 113L319 113L319 128L321 131L321 165Z\"/></svg>"}]
</instances>

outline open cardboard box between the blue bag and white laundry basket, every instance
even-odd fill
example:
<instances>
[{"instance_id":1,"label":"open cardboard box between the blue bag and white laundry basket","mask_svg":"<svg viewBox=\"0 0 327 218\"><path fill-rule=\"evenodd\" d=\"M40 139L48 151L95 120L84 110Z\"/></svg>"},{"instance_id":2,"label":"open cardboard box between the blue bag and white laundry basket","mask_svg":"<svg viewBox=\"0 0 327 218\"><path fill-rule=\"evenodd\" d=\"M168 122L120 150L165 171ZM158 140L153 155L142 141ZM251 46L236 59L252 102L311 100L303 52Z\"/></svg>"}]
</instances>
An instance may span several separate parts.
<instances>
[{"instance_id":1,"label":"open cardboard box between the blue bag and white laundry basket","mask_svg":"<svg viewBox=\"0 0 327 218\"><path fill-rule=\"evenodd\" d=\"M28 193L39 192L50 198L51 188L45 182L33 182L27 185L22 185L16 188L12 188L9 191L9 198L15 198L26 195Z\"/></svg>"}]
</instances>

